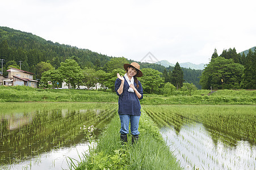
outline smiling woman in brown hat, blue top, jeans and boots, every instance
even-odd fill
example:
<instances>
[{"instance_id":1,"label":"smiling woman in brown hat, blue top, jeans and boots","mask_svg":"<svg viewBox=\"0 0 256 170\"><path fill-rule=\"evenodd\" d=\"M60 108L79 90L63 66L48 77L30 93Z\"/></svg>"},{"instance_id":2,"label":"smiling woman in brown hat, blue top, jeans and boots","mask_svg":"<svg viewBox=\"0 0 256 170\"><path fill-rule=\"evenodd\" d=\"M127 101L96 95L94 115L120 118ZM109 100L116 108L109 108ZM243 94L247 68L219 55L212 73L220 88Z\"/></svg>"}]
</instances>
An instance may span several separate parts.
<instances>
[{"instance_id":1,"label":"smiling woman in brown hat, blue top, jeans and boots","mask_svg":"<svg viewBox=\"0 0 256 170\"><path fill-rule=\"evenodd\" d=\"M140 132L139 120L141 114L140 101L143 98L143 89L137 77L142 76L140 65L136 62L124 64L126 74L117 73L115 91L119 96L118 113L121 121L120 138L122 145L127 142L129 122L131 122L132 143L137 142Z\"/></svg>"}]
</instances>

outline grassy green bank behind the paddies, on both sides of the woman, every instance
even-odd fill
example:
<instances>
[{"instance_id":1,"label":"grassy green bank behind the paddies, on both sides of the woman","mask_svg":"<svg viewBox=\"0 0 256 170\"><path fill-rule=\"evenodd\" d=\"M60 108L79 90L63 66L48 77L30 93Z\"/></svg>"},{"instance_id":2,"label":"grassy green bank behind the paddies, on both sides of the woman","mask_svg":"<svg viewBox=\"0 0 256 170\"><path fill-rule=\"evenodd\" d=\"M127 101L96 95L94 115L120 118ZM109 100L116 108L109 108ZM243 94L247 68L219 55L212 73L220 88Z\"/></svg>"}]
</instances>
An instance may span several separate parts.
<instances>
[{"instance_id":1,"label":"grassy green bank behind the paddies, on both sides of the woman","mask_svg":"<svg viewBox=\"0 0 256 170\"><path fill-rule=\"evenodd\" d=\"M191 96L182 91L174 95L144 94L141 104L240 104L255 105L256 90L218 90L208 96L209 90L196 90ZM24 86L0 86L0 102L117 102L118 96L111 91L54 90Z\"/></svg>"}]
</instances>

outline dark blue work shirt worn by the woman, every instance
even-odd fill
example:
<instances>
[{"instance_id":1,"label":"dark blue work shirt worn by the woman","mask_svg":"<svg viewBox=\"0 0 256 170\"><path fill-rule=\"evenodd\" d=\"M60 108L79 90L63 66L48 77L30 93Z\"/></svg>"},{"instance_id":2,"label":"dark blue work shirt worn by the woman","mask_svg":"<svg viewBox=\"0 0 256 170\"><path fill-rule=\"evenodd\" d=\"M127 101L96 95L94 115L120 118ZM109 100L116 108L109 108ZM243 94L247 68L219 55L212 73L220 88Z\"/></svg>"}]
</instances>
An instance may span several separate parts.
<instances>
[{"instance_id":1,"label":"dark blue work shirt worn by the woman","mask_svg":"<svg viewBox=\"0 0 256 170\"><path fill-rule=\"evenodd\" d=\"M134 81L134 86L136 87L137 84ZM116 94L119 96L118 98L118 113L119 114L129 114L132 116L140 116L141 114L141 106L140 101L143 98L143 89L141 86L140 81L138 80L139 88L137 88L137 91L141 94L140 99L137 97L136 93L134 92L128 92L129 84L127 80L124 79L124 88L121 95L117 92L121 85L121 80L119 78L116 79L115 82L115 91Z\"/></svg>"}]
</instances>

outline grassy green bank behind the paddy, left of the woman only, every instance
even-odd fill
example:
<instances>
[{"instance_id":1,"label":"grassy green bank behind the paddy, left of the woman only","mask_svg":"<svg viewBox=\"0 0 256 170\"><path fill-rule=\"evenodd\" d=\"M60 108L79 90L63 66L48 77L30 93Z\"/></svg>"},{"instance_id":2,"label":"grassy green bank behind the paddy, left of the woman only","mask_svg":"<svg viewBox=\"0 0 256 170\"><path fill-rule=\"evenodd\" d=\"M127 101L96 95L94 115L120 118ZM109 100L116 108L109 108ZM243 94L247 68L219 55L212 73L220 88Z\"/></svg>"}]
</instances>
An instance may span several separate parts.
<instances>
[{"instance_id":1,"label":"grassy green bank behind the paddy, left of the woman only","mask_svg":"<svg viewBox=\"0 0 256 170\"><path fill-rule=\"evenodd\" d=\"M0 102L116 102L113 92L69 89L39 89L24 86L0 86Z\"/></svg>"}]
</instances>

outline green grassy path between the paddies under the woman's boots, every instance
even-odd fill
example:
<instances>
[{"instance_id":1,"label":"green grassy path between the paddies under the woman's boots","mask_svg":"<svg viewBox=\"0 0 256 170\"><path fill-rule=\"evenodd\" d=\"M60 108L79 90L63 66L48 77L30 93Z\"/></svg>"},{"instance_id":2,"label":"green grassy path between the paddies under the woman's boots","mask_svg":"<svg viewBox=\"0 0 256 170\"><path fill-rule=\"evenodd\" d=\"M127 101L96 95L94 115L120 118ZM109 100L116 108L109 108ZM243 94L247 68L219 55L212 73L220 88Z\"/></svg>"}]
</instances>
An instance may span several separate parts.
<instances>
[{"instance_id":1,"label":"green grassy path between the paddies under the woman's boots","mask_svg":"<svg viewBox=\"0 0 256 170\"><path fill-rule=\"evenodd\" d=\"M100 135L92 156L85 156L77 169L182 169L163 141L159 129L146 114L141 115L139 141L131 145L120 142L120 120L115 116Z\"/></svg>"}]
</instances>

